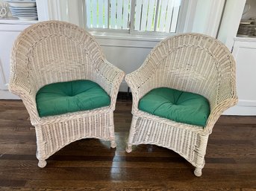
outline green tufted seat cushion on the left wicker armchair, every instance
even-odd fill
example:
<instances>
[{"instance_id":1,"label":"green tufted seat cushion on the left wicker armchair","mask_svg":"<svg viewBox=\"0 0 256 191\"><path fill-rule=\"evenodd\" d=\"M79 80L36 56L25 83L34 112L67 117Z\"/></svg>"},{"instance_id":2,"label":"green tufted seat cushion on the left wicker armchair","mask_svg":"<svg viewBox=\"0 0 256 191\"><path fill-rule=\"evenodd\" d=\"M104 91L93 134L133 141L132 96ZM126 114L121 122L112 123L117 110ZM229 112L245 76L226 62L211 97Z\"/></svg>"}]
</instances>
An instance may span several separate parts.
<instances>
[{"instance_id":1,"label":"green tufted seat cushion on the left wicker armchair","mask_svg":"<svg viewBox=\"0 0 256 191\"><path fill-rule=\"evenodd\" d=\"M52 83L37 92L40 117L85 111L110 105L110 97L96 82L76 80Z\"/></svg>"}]
</instances>

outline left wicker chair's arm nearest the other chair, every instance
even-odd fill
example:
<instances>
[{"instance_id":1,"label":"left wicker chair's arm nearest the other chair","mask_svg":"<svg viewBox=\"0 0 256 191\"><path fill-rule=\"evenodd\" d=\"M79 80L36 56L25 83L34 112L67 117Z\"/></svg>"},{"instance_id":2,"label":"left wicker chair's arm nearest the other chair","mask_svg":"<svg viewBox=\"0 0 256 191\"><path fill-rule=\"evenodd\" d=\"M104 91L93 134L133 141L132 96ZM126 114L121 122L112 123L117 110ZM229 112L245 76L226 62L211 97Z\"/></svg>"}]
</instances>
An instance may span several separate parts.
<instances>
[{"instance_id":1,"label":"left wicker chair's arm nearest the other chair","mask_svg":"<svg viewBox=\"0 0 256 191\"><path fill-rule=\"evenodd\" d=\"M115 109L116 97L119 91L119 86L125 77L125 72L112 65L107 59L96 66L95 81L107 91L111 98L111 109Z\"/></svg>"}]
</instances>

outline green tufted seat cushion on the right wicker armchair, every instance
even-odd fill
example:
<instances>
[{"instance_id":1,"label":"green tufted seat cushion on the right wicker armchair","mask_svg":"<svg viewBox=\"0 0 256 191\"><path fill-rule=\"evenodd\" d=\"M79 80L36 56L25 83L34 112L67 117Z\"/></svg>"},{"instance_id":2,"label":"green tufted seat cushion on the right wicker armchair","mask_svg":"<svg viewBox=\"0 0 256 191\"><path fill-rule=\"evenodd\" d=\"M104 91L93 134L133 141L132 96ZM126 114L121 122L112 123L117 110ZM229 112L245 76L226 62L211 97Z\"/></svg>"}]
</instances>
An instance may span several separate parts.
<instances>
[{"instance_id":1,"label":"green tufted seat cushion on the right wicker armchair","mask_svg":"<svg viewBox=\"0 0 256 191\"><path fill-rule=\"evenodd\" d=\"M172 88L155 88L139 103L139 109L158 117L205 126L210 114L209 102L199 94L178 91Z\"/></svg>"}]
</instances>

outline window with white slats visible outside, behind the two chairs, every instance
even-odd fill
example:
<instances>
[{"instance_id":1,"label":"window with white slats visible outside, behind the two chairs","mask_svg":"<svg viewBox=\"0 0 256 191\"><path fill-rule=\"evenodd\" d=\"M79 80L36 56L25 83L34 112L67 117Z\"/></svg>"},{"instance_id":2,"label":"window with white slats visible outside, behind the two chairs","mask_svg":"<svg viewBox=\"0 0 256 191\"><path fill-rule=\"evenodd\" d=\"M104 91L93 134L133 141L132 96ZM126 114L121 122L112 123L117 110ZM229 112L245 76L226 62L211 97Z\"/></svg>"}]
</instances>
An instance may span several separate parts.
<instances>
[{"instance_id":1,"label":"window with white slats visible outside, behind the two chairs","mask_svg":"<svg viewBox=\"0 0 256 191\"><path fill-rule=\"evenodd\" d=\"M87 28L175 33L181 0L85 0Z\"/></svg>"}]
</instances>

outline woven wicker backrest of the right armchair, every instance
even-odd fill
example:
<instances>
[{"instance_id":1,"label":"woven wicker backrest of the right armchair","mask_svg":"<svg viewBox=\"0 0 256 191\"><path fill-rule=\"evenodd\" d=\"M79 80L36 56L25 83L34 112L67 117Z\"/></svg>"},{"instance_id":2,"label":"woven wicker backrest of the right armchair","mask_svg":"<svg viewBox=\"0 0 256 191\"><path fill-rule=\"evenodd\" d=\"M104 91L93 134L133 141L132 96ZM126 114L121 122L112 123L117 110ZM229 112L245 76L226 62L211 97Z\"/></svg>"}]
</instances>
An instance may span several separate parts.
<instances>
[{"instance_id":1,"label":"woven wicker backrest of the right armchair","mask_svg":"<svg viewBox=\"0 0 256 191\"><path fill-rule=\"evenodd\" d=\"M171 87L202 94L214 100L214 106L236 94L230 85L235 84L234 58L222 42L210 36L190 33L165 39L138 71L144 68L150 68L147 77L154 88ZM151 87L142 92L149 90Z\"/></svg>"}]
</instances>

